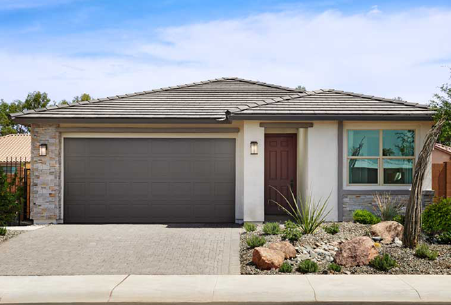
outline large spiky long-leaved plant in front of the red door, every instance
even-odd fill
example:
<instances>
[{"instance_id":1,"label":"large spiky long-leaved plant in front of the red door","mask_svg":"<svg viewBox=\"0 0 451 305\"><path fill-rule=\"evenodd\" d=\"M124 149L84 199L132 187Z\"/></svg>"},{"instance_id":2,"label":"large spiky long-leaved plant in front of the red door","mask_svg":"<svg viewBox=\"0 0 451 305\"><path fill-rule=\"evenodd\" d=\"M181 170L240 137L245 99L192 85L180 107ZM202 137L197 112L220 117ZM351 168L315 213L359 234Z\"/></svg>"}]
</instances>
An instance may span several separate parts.
<instances>
[{"instance_id":1,"label":"large spiky long-leaved plant in front of the red door","mask_svg":"<svg viewBox=\"0 0 451 305\"><path fill-rule=\"evenodd\" d=\"M327 215L330 214L332 209L327 210L327 202L329 201L330 194L327 196L325 200L318 200L315 202L312 197L312 191L310 191L309 195L303 199L300 193L296 197L293 194L293 190L291 187L289 188L291 200L285 197L278 189L270 186L277 193L279 193L280 197L284 199L287 203L288 208L285 208L279 202L275 202L274 200L270 200L277 204L280 209L282 209L285 213L287 213L300 227L300 231L303 234L312 234L320 227L324 222Z\"/></svg>"}]
</instances>

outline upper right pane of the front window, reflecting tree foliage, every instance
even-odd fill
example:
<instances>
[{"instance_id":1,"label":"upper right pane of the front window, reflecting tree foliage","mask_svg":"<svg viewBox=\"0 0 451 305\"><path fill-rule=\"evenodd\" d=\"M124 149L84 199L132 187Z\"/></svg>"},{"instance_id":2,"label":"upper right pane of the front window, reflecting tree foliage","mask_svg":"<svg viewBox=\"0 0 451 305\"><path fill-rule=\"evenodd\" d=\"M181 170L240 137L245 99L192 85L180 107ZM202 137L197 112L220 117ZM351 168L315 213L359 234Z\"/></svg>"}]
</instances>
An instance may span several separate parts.
<instances>
[{"instance_id":1,"label":"upper right pane of the front window, reflecting tree foliage","mask_svg":"<svg viewBox=\"0 0 451 305\"><path fill-rule=\"evenodd\" d=\"M383 130L382 155L414 157L415 130Z\"/></svg>"}]
</instances>

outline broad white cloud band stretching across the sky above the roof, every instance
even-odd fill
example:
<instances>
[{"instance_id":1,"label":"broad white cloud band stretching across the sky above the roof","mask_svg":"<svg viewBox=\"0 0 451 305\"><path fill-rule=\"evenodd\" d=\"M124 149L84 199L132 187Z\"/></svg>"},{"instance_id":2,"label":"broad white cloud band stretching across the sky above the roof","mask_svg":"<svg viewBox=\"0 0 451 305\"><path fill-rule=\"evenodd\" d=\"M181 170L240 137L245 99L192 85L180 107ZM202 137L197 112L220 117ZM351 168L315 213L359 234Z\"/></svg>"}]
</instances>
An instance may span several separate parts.
<instances>
[{"instance_id":1,"label":"broad white cloud band stretching across the sky above the roof","mask_svg":"<svg viewBox=\"0 0 451 305\"><path fill-rule=\"evenodd\" d=\"M441 66L451 62L450 28L451 10L421 9L266 13L160 28L156 38L121 31L121 44L114 43L114 33L97 44L120 55L115 57L0 52L0 65L8 71L0 75L0 95L12 100L40 89L56 100L81 92L101 97L238 76L427 103L448 80ZM88 45L96 51L96 44Z\"/></svg>"}]
</instances>

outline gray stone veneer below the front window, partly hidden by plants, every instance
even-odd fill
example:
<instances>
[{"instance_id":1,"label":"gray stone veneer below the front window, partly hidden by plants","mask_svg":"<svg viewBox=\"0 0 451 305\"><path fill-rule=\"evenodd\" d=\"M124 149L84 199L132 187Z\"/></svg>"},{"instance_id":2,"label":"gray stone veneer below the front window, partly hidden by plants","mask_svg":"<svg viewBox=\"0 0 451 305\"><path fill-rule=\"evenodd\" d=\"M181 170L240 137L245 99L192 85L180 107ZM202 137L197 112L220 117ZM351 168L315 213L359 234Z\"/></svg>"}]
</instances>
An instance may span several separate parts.
<instances>
[{"instance_id":1,"label":"gray stone veneer below the front window, partly hidden by plants","mask_svg":"<svg viewBox=\"0 0 451 305\"><path fill-rule=\"evenodd\" d=\"M409 201L409 195L393 195L404 204ZM423 191L423 209L432 203L434 191ZM377 204L373 198L373 193L368 191L364 195L343 195L343 221L352 220L352 213L357 209L366 209L374 213L377 211Z\"/></svg>"}]
</instances>

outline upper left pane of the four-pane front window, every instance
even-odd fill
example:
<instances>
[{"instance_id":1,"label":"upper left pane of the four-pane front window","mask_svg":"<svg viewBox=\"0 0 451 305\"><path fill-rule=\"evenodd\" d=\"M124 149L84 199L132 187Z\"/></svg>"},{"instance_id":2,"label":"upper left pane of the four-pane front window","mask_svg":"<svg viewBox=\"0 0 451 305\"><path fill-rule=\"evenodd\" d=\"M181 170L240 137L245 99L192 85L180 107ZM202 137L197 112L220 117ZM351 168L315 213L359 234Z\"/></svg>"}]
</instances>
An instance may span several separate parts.
<instances>
[{"instance_id":1,"label":"upper left pane of the four-pane front window","mask_svg":"<svg viewBox=\"0 0 451 305\"><path fill-rule=\"evenodd\" d=\"M348 130L348 156L379 157L379 130Z\"/></svg>"}]
</instances>

